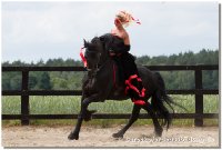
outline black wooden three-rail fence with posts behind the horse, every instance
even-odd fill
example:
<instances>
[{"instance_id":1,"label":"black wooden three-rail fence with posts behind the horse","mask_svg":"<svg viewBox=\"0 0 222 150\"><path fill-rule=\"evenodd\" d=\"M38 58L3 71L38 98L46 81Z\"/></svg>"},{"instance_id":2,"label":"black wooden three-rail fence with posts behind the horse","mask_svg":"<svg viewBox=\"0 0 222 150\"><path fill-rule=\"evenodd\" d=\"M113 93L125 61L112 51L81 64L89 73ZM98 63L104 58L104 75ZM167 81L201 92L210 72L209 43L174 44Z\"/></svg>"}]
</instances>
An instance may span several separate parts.
<instances>
[{"instance_id":1,"label":"black wooden three-rail fence with posts behind the horse","mask_svg":"<svg viewBox=\"0 0 222 150\"><path fill-rule=\"evenodd\" d=\"M155 71L194 71L195 89L168 90L169 94L194 94L195 113L174 113L175 119L194 119L196 127L203 126L203 119L218 119L219 113L203 113L203 94L219 94L218 89L203 89L202 70L219 70L219 66L150 66L147 67ZM81 96L81 90L29 90L30 71L85 71L83 67L2 67L3 72L21 71L21 90L3 90L2 96L21 96L21 114L2 114L3 120L21 120L21 124L30 123L31 119L77 119L78 114L30 114L29 96ZM97 113L94 119L128 119L130 114ZM140 114L141 119L150 118L149 114Z\"/></svg>"}]
</instances>

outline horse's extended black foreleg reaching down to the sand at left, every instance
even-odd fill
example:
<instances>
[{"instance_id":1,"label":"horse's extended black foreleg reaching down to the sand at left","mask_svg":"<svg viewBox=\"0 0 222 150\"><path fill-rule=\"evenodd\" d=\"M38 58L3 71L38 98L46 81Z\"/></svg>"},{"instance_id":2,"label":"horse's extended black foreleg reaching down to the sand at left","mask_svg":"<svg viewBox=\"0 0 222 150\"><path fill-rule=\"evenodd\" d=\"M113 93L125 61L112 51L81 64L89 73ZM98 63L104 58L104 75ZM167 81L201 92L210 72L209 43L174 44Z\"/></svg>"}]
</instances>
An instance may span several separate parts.
<instances>
[{"instance_id":1,"label":"horse's extended black foreleg reaching down to the sand at left","mask_svg":"<svg viewBox=\"0 0 222 150\"><path fill-rule=\"evenodd\" d=\"M80 132L80 129L81 129L81 124L82 124L82 121L83 119L85 118L87 116L87 108L88 106L90 104L90 102L95 102L99 98L99 94L92 94L91 97L89 98L85 98L84 100L82 100L81 102L81 111L78 116L78 121L77 121L77 126L74 128L73 131L71 131L71 133L69 134L68 139L69 140L78 140L79 139L79 132Z\"/></svg>"}]
</instances>

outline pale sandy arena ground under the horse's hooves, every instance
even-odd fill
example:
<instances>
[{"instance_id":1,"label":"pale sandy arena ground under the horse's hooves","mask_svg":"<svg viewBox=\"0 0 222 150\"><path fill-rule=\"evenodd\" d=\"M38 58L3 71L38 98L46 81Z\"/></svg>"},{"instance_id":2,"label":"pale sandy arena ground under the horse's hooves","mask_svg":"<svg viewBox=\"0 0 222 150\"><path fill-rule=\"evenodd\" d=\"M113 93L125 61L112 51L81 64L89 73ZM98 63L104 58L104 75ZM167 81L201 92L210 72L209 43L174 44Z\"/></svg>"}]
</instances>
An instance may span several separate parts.
<instances>
[{"instance_id":1,"label":"pale sandy arena ground under the horse's hooves","mask_svg":"<svg viewBox=\"0 0 222 150\"><path fill-rule=\"evenodd\" d=\"M72 127L2 127L3 147L219 147L219 128L171 127L162 138L153 136L152 127L132 127L123 139L113 139L114 128L82 127L78 141L68 140Z\"/></svg>"}]
</instances>

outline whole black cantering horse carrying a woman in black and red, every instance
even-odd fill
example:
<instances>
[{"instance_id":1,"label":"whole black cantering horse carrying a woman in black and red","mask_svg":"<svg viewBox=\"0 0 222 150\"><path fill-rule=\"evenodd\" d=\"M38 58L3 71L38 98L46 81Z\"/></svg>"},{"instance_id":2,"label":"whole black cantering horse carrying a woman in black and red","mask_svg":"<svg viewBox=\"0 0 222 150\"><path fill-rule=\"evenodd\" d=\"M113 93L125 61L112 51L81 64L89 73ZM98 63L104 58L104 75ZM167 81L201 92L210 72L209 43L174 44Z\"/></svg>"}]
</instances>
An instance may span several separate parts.
<instances>
[{"instance_id":1,"label":"whole black cantering horse carrying a woman in black and red","mask_svg":"<svg viewBox=\"0 0 222 150\"><path fill-rule=\"evenodd\" d=\"M87 42L84 40L84 57L88 63L88 74L85 74L83 78L81 111L74 130L68 137L70 140L79 139L82 121L89 121L92 113L95 112L88 110L88 106L91 102L129 99L129 97L124 94L124 83L118 82L119 76L114 76L115 79L113 79L113 68L117 66L113 59L109 56L109 43L114 42L112 38L113 37L111 34L108 34L107 37L95 37L91 40L91 42ZM171 113L165 107L165 103L169 104L173 110L171 103L175 104L175 102L173 102L172 99L167 94L164 81L160 73L152 72L142 66L138 66L138 70L142 79L143 87L147 89L145 104L133 106L129 122L119 132L112 134L114 138L123 137L132 123L138 120L141 109L144 109L148 113L150 113L154 124L155 134L159 137L162 136L162 127L167 126L168 129L172 121ZM119 87L122 86L122 90L117 90L115 84ZM151 102L148 101L150 98ZM159 122L158 118L162 118L162 123Z\"/></svg>"}]
</instances>

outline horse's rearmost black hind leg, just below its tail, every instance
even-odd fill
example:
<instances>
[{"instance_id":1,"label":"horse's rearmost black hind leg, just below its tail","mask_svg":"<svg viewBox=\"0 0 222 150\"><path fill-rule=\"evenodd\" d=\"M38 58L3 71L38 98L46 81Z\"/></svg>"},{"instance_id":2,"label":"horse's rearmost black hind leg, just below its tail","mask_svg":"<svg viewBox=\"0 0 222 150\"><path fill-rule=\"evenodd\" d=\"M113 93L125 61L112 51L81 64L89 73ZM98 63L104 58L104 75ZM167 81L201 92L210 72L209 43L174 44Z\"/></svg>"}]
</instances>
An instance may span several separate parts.
<instances>
[{"instance_id":1,"label":"horse's rearmost black hind leg, just below its tail","mask_svg":"<svg viewBox=\"0 0 222 150\"><path fill-rule=\"evenodd\" d=\"M160 126L158 121L158 116L154 113L151 104L148 102L145 106L142 107L144 110L150 113L150 117L152 118L153 124L154 124L154 130L155 130L155 136L161 137L162 136L162 127Z\"/></svg>"}]
</instances>

